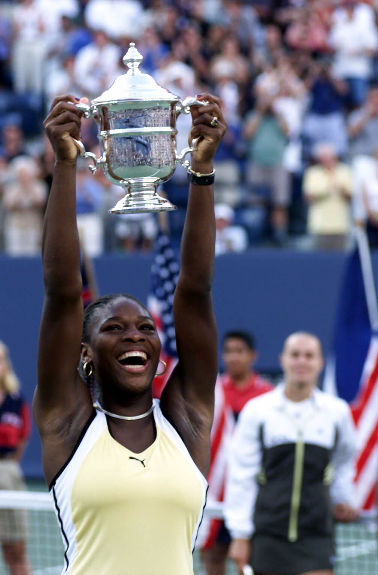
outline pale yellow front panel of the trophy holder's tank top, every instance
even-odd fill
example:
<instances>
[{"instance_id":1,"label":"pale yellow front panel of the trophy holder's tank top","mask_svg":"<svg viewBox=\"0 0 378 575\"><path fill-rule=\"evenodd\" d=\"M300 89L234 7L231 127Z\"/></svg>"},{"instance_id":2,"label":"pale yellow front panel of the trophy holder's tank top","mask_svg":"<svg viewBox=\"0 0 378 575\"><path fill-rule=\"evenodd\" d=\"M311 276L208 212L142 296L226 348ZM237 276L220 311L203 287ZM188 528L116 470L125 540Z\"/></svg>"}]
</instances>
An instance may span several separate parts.
<instances>
[{"instance_id":1,"label":"pale yellow front panel of the trophy holder's tank top","mask_svg":"<svg viewBox=\"0 0 378 575\"><path fill-rule=\"evenodd\" d=\"M187 458L157 425L134 454L99 436L74 480L77 554L71 575L192 575L191 546L203 491Z\"/></svg>"}]
</instances>

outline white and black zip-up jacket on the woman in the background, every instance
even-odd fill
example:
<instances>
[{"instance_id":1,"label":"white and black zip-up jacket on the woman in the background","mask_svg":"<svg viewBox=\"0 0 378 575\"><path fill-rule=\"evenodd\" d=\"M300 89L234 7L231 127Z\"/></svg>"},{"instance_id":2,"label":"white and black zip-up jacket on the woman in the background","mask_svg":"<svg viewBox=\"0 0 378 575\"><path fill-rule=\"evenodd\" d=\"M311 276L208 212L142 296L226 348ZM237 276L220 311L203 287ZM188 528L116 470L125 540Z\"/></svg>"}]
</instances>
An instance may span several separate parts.
<instances>
[{"instance_id":1,"label":"white and black zip-up jacket on the woman in the background","mask_svg":"<svg viewBox=\"0 0 378 575\"><path fill-rule=\"evenodd\" d=\"M288 530L296 540L301 529L325 523L329 496L332 505L353 505L355 449L349 405L340 398L315 389L309 399L292 402L280 384L250 400L238 419L227 472L225 522L232 537L249 538L256 523L265 533ZM310 507L304 494L307 503L315 497Z\"/></svg>"}]
</instances>

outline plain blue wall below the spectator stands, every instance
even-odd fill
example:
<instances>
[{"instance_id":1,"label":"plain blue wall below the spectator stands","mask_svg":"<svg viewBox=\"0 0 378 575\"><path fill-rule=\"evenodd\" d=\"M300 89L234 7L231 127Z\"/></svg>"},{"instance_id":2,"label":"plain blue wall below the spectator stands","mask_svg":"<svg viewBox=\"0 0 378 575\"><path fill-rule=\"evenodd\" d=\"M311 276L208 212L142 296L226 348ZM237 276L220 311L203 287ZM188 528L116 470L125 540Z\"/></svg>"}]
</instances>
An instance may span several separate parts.
<instances>
[{"instance_id":1,"label":"plain blue wall below the spectator stands","mask_svg":"<svg viewBox=\"0 0 378 575\"><path fill-rule=\"evenodd\" d=\"M282 342L288 333L298 329L316 333L326 353L344 260L343 254L284 250L252 250L219 257L213 290L219 336L233 328L253 331L260 350L258 367L263 371L279 369L277 356ZM149 255L97 259L94 264L100 294L126 291L145 302L151 262ZM378 258L374 267L378 270ZM43 302L40 259L0 256L0 296L0 339L10 347L23 393L31 401ZM41 476L36 430L23 466L27 476Z\"/></svg>"}]
</instances>

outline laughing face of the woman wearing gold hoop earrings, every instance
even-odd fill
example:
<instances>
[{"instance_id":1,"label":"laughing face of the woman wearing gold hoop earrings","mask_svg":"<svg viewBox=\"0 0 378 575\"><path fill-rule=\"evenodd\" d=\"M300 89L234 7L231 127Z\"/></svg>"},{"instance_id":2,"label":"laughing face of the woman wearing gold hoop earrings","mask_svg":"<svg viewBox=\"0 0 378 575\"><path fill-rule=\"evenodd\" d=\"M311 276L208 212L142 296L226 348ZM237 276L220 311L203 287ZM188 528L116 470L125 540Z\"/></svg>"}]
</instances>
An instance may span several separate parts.
<instances>
[{"instance_id":1,"label":"laughing face of the woman wearing gold hoop earrings","mask_svg":"<svg viewBox=\"0 0 378 575\"><path fill-rule=\"evenodd\" d=\"M92 362L105 400L137 396L155 377L161 343L151 315L138 302L119 297L95 310L83 343L82 361Z\"/></svg>"}]
</instances>

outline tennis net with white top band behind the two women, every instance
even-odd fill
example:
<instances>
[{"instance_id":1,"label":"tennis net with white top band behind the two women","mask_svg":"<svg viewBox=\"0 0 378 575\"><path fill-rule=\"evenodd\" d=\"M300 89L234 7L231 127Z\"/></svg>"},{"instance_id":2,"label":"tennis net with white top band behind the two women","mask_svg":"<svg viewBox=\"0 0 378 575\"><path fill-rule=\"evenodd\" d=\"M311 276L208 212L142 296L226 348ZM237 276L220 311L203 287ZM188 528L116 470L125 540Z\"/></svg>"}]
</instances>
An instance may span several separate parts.
<instances>
[{"instance_id":1,"label":"tennis net with white top band behind the two women","mask_svg":"<svg viewBox=\"0 0 378 575\"><path fill-rule=\"evenodd\" d=\"M32 575L60 575L63 569L63 542L52 500L48 493L0 491L0 530L2 536L14 533L17 513L25 523L25 545ZM222 516L221 505L209 506L206 513ZM18 517L20 519L20 517ZM24 530L25 532L25 530ZM378 573L377 517L375 513L362 515L360 521L338 524L335 531L336 575L374 575ZM194 555L195 574L202 575L200 554ZM0 575L8 575L7 566L0 558ZM231 562L227 575L235 575ZM179 575L179 574L178 574Z\"/></svg>"}]
</instances>

